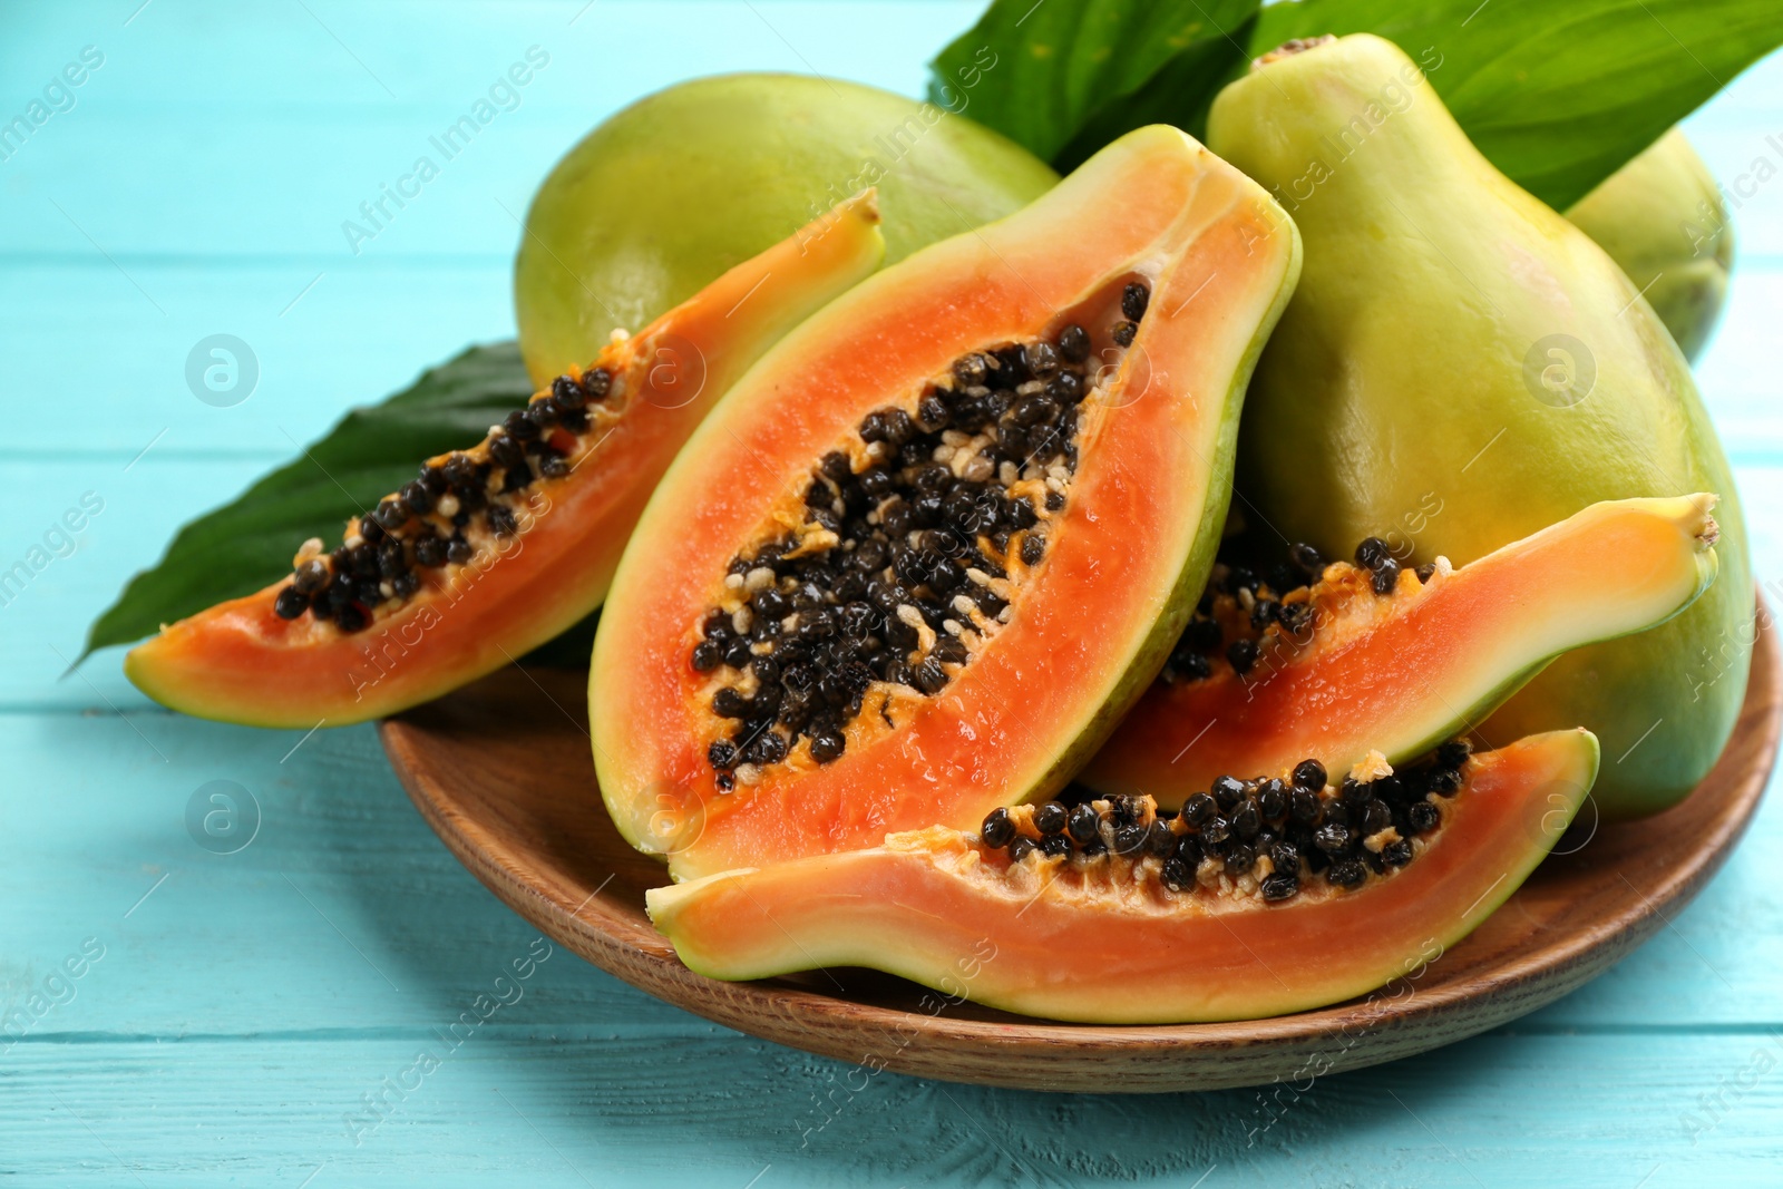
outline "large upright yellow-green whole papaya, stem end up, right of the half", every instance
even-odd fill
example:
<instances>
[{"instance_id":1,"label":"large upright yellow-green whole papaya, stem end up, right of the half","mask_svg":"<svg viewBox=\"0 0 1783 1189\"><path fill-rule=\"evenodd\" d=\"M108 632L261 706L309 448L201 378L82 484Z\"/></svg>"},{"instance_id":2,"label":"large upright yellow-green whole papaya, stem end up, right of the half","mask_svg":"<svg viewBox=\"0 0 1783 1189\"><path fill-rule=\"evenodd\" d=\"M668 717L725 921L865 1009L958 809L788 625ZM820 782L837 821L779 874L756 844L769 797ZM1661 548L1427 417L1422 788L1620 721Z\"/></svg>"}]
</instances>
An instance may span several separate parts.
<instances>
[{"instance_id":1,"label":"large upright yellow-green whole papaya, stem end up, right of the half","mask_svg":"<svg viewBox=\"0 0 1783 1189\"><path fill-rule=\"evenodd\" d=\"M1328 556L1375 535L1466 565L1599 499L1717 492L1715 586L1555 661L1478 731L1583 726L1603 740L1599 813L1678 802L1733 729L1753 638L1740 504L1689 364L1396 46L1359 34L1271 59L1216 98L1207 135L1305 241L1246 399L1237 494Z\"/></svg>"}]
</instances>

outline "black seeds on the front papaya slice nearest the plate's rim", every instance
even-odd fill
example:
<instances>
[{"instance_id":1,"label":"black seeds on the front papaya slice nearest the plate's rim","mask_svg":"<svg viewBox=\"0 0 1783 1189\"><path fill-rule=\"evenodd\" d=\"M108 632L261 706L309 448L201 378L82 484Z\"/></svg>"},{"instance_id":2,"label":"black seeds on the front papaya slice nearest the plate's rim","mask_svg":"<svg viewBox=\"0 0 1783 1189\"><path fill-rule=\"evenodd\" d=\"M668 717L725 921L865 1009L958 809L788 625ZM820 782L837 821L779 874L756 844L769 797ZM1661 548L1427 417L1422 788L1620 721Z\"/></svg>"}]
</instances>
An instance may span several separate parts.
<instances>
[{"instance_id":1,"label":"black seeds on the front papaya slice nearest the plate's rim","mask_svg":"<svg viewBox=\"0 0 1783 1189\"><path fill-rule=\"evenodd\" d=\"M1318 881L1355 890L1412 861L1412 838L1442 822L1439 799L1466 784L1469 754L1466 740L1451 740L1391 775L1344 777L1339 788L1327 784L1318 759L1303 759L1286 781L1221 775L1180 813L1150 797L991 809L979 838L1011 863L1036 850L1077 863L1150 856L1171 891L1218 875L1250 875L1264 900L1287 900Z\"/></svg>"}]
</instances>

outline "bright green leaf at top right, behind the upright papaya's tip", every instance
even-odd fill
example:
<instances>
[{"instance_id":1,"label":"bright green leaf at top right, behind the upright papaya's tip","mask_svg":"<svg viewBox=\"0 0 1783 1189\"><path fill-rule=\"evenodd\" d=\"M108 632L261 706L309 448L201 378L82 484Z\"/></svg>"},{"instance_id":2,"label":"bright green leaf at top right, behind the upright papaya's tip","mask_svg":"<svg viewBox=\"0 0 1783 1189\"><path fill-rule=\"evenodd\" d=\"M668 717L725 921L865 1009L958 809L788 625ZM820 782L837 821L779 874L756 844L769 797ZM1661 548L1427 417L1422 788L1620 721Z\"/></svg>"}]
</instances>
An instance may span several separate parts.
<instances>
[{"instance_id":1,"label":"bright green leaf at top right, behind the upright papaya's tip","mask_svg":"<svg viewBox=\"0 0 1783 1189\"><path fill-rule=\"evenodd\" d=\"M1783 4L1300 0L1262 11L1250 52L1352 32L1417 59L1480 152L1565 210L1783 45Z\"/></svg>"}]
</instances>

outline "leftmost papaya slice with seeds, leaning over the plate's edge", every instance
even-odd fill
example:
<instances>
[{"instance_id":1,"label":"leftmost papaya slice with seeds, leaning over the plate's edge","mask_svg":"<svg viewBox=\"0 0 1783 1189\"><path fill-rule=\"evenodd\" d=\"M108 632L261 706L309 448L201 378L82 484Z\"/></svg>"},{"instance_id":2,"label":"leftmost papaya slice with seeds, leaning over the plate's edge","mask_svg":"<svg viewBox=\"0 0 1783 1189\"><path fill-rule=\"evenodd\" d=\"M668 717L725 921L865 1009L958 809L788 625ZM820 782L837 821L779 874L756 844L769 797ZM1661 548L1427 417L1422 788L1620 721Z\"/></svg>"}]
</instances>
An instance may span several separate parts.
<instances>
[{"instance_id":1,"label":"leftmost papaya slice with seeds, leaning over the plate's edge","mask_svg":"<svg viewBox=\"0 0 1783 1189\"><path fill-rule=\"evenodd\" d=\"M439 697L597 608L656 480L781 335L879 267L872 191L558 376L471 449L310 540L289 579L166 626L125 658L164 706L346 726Z\"/></svg>"}]
</instances>

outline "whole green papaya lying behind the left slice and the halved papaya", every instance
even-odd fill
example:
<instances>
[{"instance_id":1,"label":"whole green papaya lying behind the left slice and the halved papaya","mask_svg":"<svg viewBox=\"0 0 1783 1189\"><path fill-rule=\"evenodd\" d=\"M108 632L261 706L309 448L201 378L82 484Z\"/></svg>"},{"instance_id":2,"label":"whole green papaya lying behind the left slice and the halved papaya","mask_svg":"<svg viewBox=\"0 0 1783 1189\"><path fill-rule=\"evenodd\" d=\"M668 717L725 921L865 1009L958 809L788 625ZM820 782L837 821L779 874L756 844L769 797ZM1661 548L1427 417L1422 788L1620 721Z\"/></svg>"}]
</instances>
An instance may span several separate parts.
<instances>
[{"instance_id":1,"label":"whole green papaya lying behind the left slice and the halved papaya","mask_svg":"<svg viewBox=\"0 0 1783 1189\"><path fill-rule=\"evenodd\" d=\"M538 187L514 264L521 355L547 383L868 185L895 264L1057 180L963 114L854 82L683 82L597 127Z\"/></svg>"}]
</instances>

